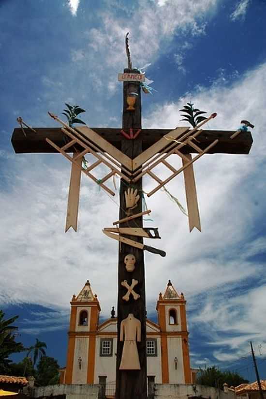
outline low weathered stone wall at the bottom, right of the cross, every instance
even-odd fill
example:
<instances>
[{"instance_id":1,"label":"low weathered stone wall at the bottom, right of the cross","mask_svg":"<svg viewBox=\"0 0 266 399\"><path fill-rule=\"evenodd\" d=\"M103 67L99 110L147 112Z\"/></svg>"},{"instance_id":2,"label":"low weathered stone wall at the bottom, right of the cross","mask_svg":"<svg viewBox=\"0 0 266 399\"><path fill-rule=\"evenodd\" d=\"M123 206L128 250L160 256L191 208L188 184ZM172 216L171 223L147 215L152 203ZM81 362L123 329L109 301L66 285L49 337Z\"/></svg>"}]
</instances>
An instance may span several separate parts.
<instances>
[{"instance_id":1,"label":"low weathered stone wall at the bottom, right of the cross","mask_svg":"<svg viewBox=\"0 0 266 399\"><path fill-rule=\"evenodd\" d=\"M202 399L236 399L235 392L205 385L193 384L155 384L155 399L188 399L201 397Z\"/></svg>"}]
</instances>

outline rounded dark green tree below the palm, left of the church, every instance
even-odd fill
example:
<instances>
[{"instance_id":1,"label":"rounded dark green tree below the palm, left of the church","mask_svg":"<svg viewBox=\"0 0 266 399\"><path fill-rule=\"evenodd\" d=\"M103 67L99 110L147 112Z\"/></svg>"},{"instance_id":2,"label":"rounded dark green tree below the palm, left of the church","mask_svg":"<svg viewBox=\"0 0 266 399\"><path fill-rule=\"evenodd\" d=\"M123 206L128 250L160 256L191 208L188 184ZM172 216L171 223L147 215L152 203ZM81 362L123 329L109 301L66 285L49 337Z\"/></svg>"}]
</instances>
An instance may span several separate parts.
<instances>
[{"instance_id":1,"label":"rounded dark green tree below the palm, left of the church","mask_svg":"<svg viewBox=\"0 0 266 399\"><path fill-rule=\"evenodd\" d=\"M43 356L37 365L36 383L45 385L55 385L59 383L59 364L56 359Z\"/></svg>"}]
</instances>

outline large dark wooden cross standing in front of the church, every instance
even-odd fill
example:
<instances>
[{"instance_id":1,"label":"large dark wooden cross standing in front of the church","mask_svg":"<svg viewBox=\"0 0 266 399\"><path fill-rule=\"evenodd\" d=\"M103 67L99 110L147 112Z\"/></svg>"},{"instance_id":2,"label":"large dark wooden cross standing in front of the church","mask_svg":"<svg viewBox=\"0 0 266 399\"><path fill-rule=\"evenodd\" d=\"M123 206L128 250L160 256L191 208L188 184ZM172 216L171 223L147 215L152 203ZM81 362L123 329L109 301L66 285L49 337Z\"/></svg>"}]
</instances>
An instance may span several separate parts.
<instances>
[{"instance_id":1,"label":"large dark wooden cross standing in front of the church","mask_svg":"<svg viewBox=\"0 0 266 399\"><path fill-rule=\"evenodd\" d=\"M138 70L125 69L124 74L139 74ZM133 79L133 78L132 78ZM128 97L133 96L134 100L129 101ZM12 144L16 153L55 153L61 152L74 165L72 169L72 187L76 195L79 192L79 180L81 172L81 159L84 154L90 153L97 159L94 164L83 169L83 172L96 181L106 190L104 182L117 173L120 179L120 212L119 220L121 221L119 228L132 227L140 229L143 227L143 208L140 199L136 207L133 209L135 218L129 217L126 212L125 192L130 186L137 189L141 195L143 193L142 176L147 173L151 176L157 186L155 191L149 192L152 195L160 187L169 181L163 181L152 171L153 165L161 159L161 163L168 167L172 172L172 177L178 173L184 172L185 185L187 191L187 205L191 210L191 218L197 218L197 201L195 194L194 175L192 169L191 154L197 154L195 157L202 156L207 153L223 153L223 154L248 154L252 144L251 133L243 131L233 140L230 138L235 131L222 130L202 130L194 131L188 128L177 129L142 129L141 126L141 87L140 80L124 80L123 83L123 121L122 130L120 128L74 128L74 131L67 128L34 128L34 133L30 128L24 128L25 135L21 128L15 128L12 135ZM131 109L129 109L131 108ZM133 109L132 109L133 108ZM123 134L124 133L124 134ZM193 134L196 133L195 142ZM68 135L68 143L66 144L64 135ZM167 139L165 138L167 137ZM185 136L185 137L184 137ZM99 139L100 138L100 139ZM163 139L163 142L162 142ZM165 141L164 141L165 140ZM180 141L181 140L181 141ZM111 147L108 147L109 143ZM197 143L197 144L196 144ZM215 144L213 144L215 143ZM89 149L89 150L88 150ZM117 150L117 152L115 151ZM180 170L176 170L169 162L166 161L167 155L177 154L182 158L183 166ZM69 155L73 153L73 157ZM104 156L106 154L109 159ZM123 154L123 157L121 157ZM149 158L152 155L153 160ZM159 154L159 155L158 155ZM165 157L164 157L165 156ZM102 158L103 157L103 158ZM161 158L160 158L161 157ZM110 173L97 180L92 175L92 169L101 164L105 160L105 165L110 168ZM115 160L115 162L113 161ZM104 163L104 162L103 162ZM92 177L91 177L92 176ZM108 188L107 188L108 189ZM110 189L109 189L110 190ZM106 190L108 191L108 190ZM111 190L110 190L111 191ZM110 192L112 194L112 192ZM71 196L71 193L69 194ZM196 202L195 202L196 201ZM71 204L69 203L69 206ZM76 209L72 211L76 212ZM190 213L191 213L190 212ZM116 222L118 223L118 222ZM193 222L192 222L193 224ZM200 225L197 225L200 229ZM193 225L190 225L193 228ZM135 242L143 243L142 237L128 236ZM103 238L104 239L104 238ZM107 238L106 238L107 239ZM135 256L135 268L129 272L125 268L124 258L128 254ZM127 243L119 243L118 255L118 337L121 321L132 313L136 319L141 322L141 341L137 343L140 370L119 370L120 360L123 350L123 342L118 339L117 345L117 385L116 399L146 399L147 398L147 355L146 355L146 296L145 296L145 271L144 271L144 255L143 250L133 247ZM128 301L123 300L125 288L122 282L128 281L129 286L133 280L136 280L136 294L139 298L135 300L132 296Z\"/></svg>"}]
</instances>

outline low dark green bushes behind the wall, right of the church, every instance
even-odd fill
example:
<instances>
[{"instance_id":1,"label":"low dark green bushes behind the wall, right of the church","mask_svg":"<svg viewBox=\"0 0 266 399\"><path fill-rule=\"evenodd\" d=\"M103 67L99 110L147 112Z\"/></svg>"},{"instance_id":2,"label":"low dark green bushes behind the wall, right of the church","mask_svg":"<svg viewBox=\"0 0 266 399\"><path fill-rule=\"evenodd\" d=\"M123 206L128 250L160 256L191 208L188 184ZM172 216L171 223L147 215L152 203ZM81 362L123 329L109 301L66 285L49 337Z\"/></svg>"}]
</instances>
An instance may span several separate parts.
<instances>
[{"instance_id":1,"label":"low dark green bushes behind the wall, right of the church","mask_svg":"<svg viewBox=\"0 0 266 399\"><path fill-rule=\"evenodd\" d=\"M227 383L229 386L237 386L242 383L248 383L238 373L234 371L221 371L218 367L205 367L200 368L197 374L197 383L200 385L214 386L223 389L223 383Z\"/></svg>"}]
</instances>

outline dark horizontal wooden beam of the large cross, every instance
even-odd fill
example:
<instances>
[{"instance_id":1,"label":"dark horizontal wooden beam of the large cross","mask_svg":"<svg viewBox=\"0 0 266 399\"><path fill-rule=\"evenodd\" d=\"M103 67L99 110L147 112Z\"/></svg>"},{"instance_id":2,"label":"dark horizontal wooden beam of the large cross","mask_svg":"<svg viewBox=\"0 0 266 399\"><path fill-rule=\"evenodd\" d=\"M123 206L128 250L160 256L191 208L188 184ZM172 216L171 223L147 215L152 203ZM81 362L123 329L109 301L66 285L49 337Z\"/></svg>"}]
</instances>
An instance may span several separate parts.
<instances>
[{"instance_id":1,"label":"dark horizontal wooden beam of the large cross","mask_svg":"<svg viewBox=\"0 0 266 399\"><path fill-rule=\"evenodd\" d=\"M105 140L109 141L119 150L121 150L121 133L119 128L91 128ZM12 134L12 145L15 153L56 153L51 145L45 139L52 140L56 145L62 147L65 144L63 140L63 133L61 128L34 128L36 133L30 129L24 129L26 137L21 128L15 128ZM142 129L142 143L143 151L150 145L156 143L166 133L173 129ZM209 153L211 154L249 154L252 145L252 136L249 131L241 132L234 140L230 136L234 134L235 130L203 130L198 136L197 140L203 150L207 148L214 140L218 139L216 144ZM75 145L78 149L78 145ZM196 146L195 146L196 147ZM66 152L73 152L73 148L69 147ZM186 145L180 149L180 152L197 153L196 148Z\"/></svg>"}]
</instances>

